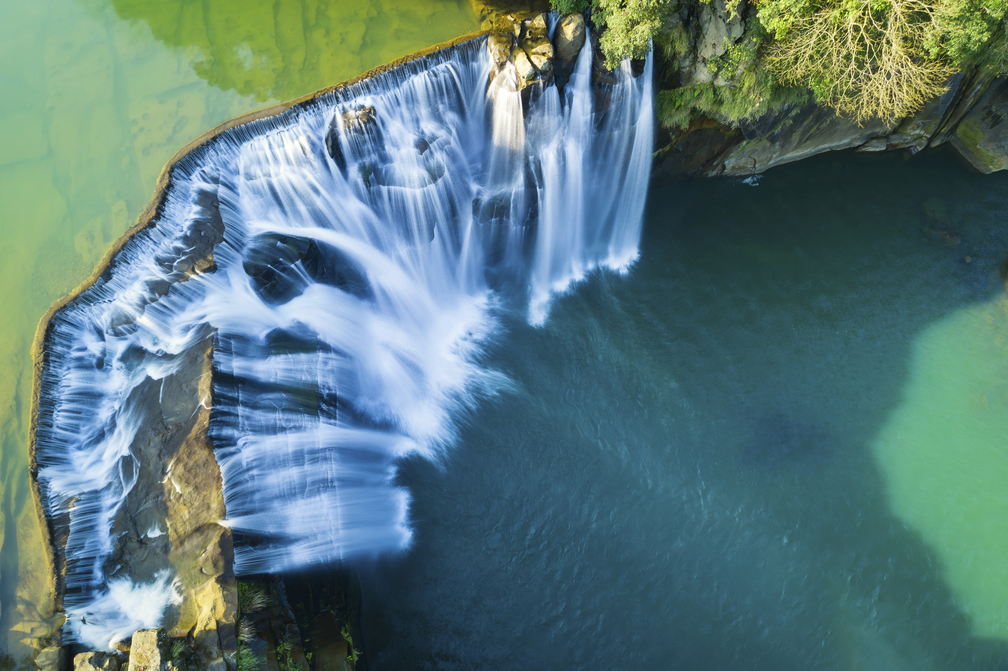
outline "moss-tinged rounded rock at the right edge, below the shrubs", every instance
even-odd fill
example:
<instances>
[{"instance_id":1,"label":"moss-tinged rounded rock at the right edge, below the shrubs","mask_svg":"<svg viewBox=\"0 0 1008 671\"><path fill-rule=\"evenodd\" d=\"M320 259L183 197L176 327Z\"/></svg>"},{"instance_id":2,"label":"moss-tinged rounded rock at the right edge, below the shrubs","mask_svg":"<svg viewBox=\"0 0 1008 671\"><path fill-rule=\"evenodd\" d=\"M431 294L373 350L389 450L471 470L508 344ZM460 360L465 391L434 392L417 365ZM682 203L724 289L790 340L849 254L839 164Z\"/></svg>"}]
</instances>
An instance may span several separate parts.
<instances>
[{"instance_id":1,"label":"moss-tinged rounded rock at the right edge, below the shrubs","mask_svg":"<svg viewBox=\"0 0 1008 671\"><path fill-rule=\"evenodd\" d=\"M952 137L956 147L981 172L1008 167L1008 78L998 78L959 122Z\"/></svg>"}]
</instances>

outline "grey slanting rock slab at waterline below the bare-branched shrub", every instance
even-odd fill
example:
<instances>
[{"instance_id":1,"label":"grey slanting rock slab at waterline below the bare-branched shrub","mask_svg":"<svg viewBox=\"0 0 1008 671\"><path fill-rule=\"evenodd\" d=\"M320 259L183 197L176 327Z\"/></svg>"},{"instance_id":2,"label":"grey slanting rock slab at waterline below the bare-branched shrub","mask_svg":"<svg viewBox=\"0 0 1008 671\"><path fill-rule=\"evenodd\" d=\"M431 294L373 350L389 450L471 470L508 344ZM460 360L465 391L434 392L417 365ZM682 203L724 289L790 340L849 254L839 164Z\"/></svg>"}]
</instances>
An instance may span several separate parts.
<instances>
[{"instance_id":1,"label":"grey slanting rock slab at waterline below the bare-branched shrub","mask_svg":"<svg viewBox=\"0 0 1008 671\"><path fill-rule=\"evenodd\" d=\"M872 138L888 136L898 122L869 119L859 126L815 103L788 106L742 124L745 140L720 158L708 175L756 174L825 151L860 147Z\"/></svg>"}]
</instances>

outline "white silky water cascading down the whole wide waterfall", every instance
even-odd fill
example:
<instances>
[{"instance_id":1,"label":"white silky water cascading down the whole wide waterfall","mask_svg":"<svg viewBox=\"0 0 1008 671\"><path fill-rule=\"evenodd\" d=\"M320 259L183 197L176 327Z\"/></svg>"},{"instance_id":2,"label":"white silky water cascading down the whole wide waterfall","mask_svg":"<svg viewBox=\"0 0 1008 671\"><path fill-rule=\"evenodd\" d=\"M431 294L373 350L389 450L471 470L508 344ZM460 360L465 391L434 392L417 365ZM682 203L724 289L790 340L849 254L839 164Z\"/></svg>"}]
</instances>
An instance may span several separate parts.
<instances>
[{"instance_id":1,"label":"white silky water cascading down the whole wide waterfall","mask_svg":"<svg viewBox=\"0 0 1008 671\"><path fill-rule=\"evenodd\" d=\"M110 525L136 482L134 392L209 332L236 571L281 571L408 546L396 459L438 458L506 388L480 364L500 311L541 323L551 295L636 258L650 58L593 85L586 43L523 115L513 66L488 88L484 44L195 150L156 227L53 318L37 460L47 514L69 520L71 640L106 647L177 599L169 574L108 577ZM208 245L216 272L177 281Z\"/></svg>"}]
</instances>

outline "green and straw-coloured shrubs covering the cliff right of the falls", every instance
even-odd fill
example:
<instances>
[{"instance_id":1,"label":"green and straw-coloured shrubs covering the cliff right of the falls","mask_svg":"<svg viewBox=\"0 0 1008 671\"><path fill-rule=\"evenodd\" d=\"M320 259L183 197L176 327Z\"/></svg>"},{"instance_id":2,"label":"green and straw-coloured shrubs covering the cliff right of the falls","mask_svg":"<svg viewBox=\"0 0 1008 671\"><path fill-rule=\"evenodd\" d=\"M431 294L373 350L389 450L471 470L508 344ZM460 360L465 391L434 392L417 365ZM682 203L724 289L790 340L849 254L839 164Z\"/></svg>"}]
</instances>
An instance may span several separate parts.
<instances>
[{"instance_id":1,"label":"green and straw-coloured shrubs covering the cliff right of the falls","mask_svg":"<svg viewBox=\"0 0 1008 671\"><path fill-rule=\"evenodd\" d=\"M651 41L683 55L689 35L673 13L705 0L552 0L562 12L592 9L606 30L606 62L642 57ZM710 1L710 0L707 0ZM741 0L729 2L738 11ZM958 70L1008 71L1008 0L758 0L746 34L726 55L746 51L748 65L726 66L731 86L704 84L662 92L659 118L682 126L691 115L733 122L800 98L815 99L858 121L901 117L943 91ZM755 13L755 15L753 15ZM732 63L726 63L731 65Z\"/></svg>"}]
</instances>

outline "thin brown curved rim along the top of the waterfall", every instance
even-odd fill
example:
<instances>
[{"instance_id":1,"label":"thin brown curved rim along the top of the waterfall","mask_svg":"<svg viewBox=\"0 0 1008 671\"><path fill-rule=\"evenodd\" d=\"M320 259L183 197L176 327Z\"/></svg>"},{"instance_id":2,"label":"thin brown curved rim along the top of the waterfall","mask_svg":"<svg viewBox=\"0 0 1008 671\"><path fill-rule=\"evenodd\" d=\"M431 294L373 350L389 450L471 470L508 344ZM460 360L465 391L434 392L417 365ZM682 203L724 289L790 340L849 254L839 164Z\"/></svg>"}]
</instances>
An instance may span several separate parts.
<instances>
[{"instance_id":1,"label":"thin brown curved rim along the top of the waterfall","mask_svg":"<svg viewBox=\"0 0 1008 671\"><path fill-rule=\"evenodd\" d=\"M165 195L168 192L168 188L171 185L171 171L174 166L182 160L186 155L201 147L202 145L210 142L216 138L221 133L243 126L260 119L266 119L269 117L282 114L287 110L296 108L298 106L306 106L313 103L317 99L322 96L329 95L333 92L339 91L341 89L346 89L348 87L354 86L366 80L372 79L386 72L395 70L401 65L408 62L421 58L423 56L429 55L431 53L440 51L443 49L451 48L453 46L459 46L466 42L470 42L486 35L490 34L489 30L477 30L474 32L466 33L459 37L453 39L438 42L428 47L424 47L417 51L407 53L406 55L400 56L394 60L387 63L377 65L371 70L362 73L356 77L349 80L340 82L323 89L319 89L312 93L294 98L288 101L284 101L277 105L264 108L262 110L256 110L255 112L250 112L248 114L242 115L240 117L235 117L234 119L229 119L224 123L221 123L214 128L210 129L206 133L200 135L198 138L192 140L184 146L182 146L174 155L168 159L161 168L160 173L157 176L157 180L154 183L154 192L144 208L143 212L140 213L137 218L136 224L127 229L109 248L109 250L99 261L95 270L92 271L91 275L76 286L69 293L62 297L56 299L46 310L45 314L39 319L38 325L35 328L35 334L32 339L30 357L31 357L31 368L32 368L32 383L31 383L31 399L30 399L30 419L28 425L28 476L31 489L31 498L34 504L34 511L36 516L36 524L39 533L42 537L42 542L45 545L44 561L45 561L45 574L47 576L48 588L52 596L52 601L49 608L39 608L39 611L51 612L52 618L56 624L51 631L39 635L36 640L39 645L37 647L38 653L42 650L53 650L61 648L61 628L65 620L62 618L56 618L56 616L62 614L64 611L64 585L62 585L62 572L65 567L60 565L58 560L58 551L53 542L54 530L51 526L51 520L45 515L45 508L42 504L41 491L38 485L38 461L37 461L37 437L38 437L38 414L39 414L39 401L41 398L42 391L42 376L45 371L46 366L46 351L45 343L48 338L49 329L52 323L52 318L59 312L64 307L71 304L74 300L79 298L85 291L92 288L101 277L108 272L109 268L115 262L116 257L123 250L125 245L133 239L138 233L146 230L151 226L156 226L154 219L160 213L163 207ZM48 655L44 662L41 662L39 655L36 654L36 666L43 671L56 671L61 669L66 664L65 660L60 660L59 656L55 654L55 650L51 655ZM40 663L41 662L41 663Z\"/></svg>"}]
</instances>

